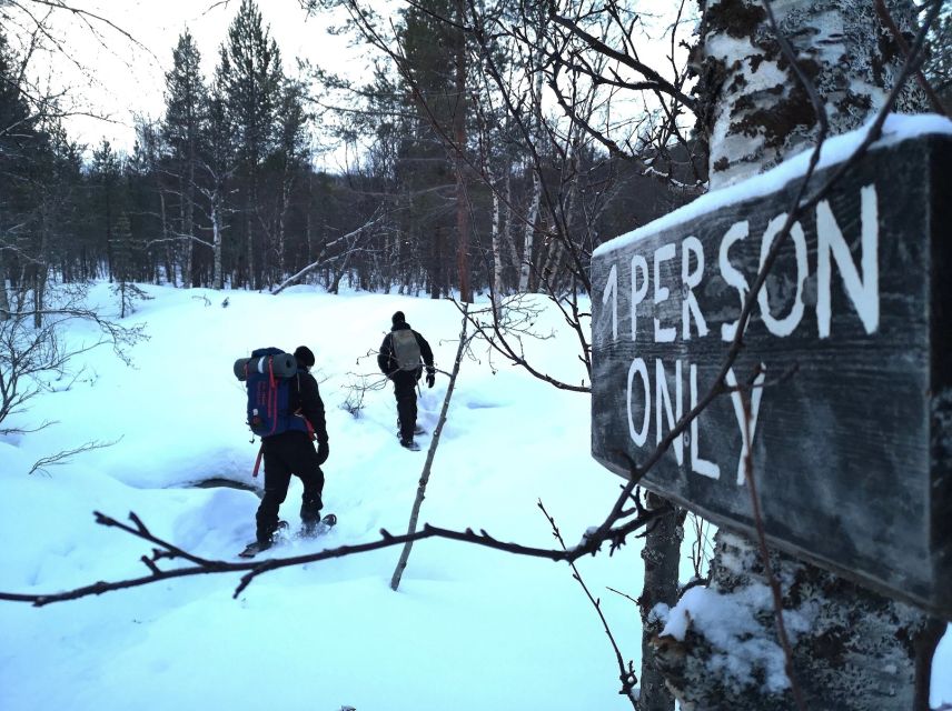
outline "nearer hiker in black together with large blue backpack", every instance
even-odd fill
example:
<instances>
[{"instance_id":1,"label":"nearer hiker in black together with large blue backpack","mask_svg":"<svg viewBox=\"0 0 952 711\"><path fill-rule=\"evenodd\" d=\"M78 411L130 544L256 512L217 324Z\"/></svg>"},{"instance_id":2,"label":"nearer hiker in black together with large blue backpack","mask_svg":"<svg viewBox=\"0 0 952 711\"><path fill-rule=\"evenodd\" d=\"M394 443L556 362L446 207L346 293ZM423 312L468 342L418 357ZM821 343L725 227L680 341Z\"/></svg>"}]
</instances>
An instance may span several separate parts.
<instances>
[{"instance_id":1,"label":"nearer hiker in black together with large blue backpack","mask_svg":"<svg viewBox=\"0 0 952 711\"><path fill-rule=\"evenodd\" d=\"M315 363L311 350L300 346L291 360L278 349L262 349L239 363L242 361L246 365L241 379L248 384L248 424L261 438L265 459L265 495L255 517L257 540L249 545L255 550L246 549L246 553L255 554L274 543L278 510L288 494L291 474L304 484L301 532L310 535L317 531L324 491L320 465L327 461L329 449L324 402L310 374Z\"/></svg>"}]
</instances>

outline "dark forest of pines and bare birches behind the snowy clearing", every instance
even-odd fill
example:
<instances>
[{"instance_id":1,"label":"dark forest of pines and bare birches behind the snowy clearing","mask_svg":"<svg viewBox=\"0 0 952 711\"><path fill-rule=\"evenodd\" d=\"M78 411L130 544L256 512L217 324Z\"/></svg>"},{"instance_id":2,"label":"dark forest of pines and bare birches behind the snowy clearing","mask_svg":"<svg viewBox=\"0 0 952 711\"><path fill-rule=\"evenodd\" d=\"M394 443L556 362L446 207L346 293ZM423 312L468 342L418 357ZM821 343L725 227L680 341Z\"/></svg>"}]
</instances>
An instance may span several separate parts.
<instances>
[{"instance_id":1,"label":"dark forest of pines and bare birches behind the snowy clearing","mask_svg":"<svg viewBox=\"0 0 952 711\"><path fill-rule=\"evenodd\" d=\"M163 113L136 121L128 152L71 140L56 99L31 93L27 58L0 33L10 293L41 307L51 280L267 290L296 276L465 300L489 288L584 291L598 242L696 194L690 161L682 190L552 117L545 52L532 48L546 17L513 16L524 37L487 39L448 21L466 3L425 4L399 13L374 76L347 84L288 61L244 0L212 76L195 38L179 37ZM349 102L329 107L331 94ZM598 110L581 91L568 100ZM359 158L317 169L329 139Z\"/></svg>"}]
</instances>

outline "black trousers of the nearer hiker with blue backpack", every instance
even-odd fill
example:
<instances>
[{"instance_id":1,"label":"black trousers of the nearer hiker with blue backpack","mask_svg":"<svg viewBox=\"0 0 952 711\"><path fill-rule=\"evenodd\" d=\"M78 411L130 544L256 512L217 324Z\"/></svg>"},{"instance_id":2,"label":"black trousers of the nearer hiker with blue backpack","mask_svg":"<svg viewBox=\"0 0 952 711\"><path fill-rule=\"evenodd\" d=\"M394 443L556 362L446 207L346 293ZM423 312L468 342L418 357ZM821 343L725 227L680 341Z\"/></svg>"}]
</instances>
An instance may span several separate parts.
<instances>
[{"instance_id":1,"label":"black trousers of the nearer hiker with blue backpack","mask_svg":"<svg viewBox=\"0 0 952 711\"><path fill-rule=\"evenodd\" d=\"M317 450L305 432L291 430L265 438L265 495L255 517L259 542L269 541L278 529L278 510L288 495L291 474L304 483L301 495L301 523L316 523L320 520L323 505L320 494L324 491L324 472L317 463Z\"/></svg>"}]
</instances>

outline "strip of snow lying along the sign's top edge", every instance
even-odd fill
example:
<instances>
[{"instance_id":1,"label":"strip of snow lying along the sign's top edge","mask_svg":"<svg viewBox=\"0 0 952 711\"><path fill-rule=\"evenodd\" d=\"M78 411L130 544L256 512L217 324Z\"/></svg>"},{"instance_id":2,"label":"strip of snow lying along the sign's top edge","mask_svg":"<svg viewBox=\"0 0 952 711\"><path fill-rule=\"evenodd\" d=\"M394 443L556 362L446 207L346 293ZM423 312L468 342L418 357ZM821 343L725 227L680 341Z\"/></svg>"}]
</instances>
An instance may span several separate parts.
<instances>
[{"instance_id":1,"label":"strip of snow lying along the sign's top edge","mask_svg":"<svg viewBox=\"0 0 952 711\"><path fill-rule=\"evenodd\" d=\"M849 133L826 139L820 154L817 170L835 166L836 163L841 163L850 158L853 151L855 151L863 142L863 139L865 139L869 128L874 120L874 118L870 119L865 126L856 129L855 131L850 131ZM886 148L918 136L928 136L931 133L952 134L952 121L934 113L914 116L891 113L886 117L885 123L883 124L882 138L873 143L872 148ZM639 239L657 233L660 230L687 222L694 218L707 214L730 204L776 192L791 180L794 180L806 172L812 151L813 148L811 147L764 173L723 188L722 190L714 190L705 193L693 202L678 208L673 212L668 212L664 217L661 217L648 224L644 224L631 232L626 232L625 234L605 242L599 246L593 254L606 254L616 249L624 249Z\"/></svg>"}]
</instances>

